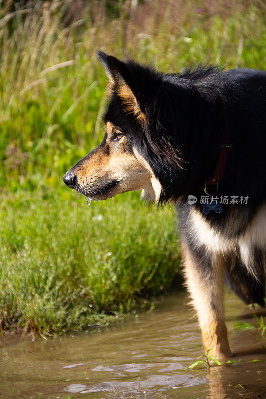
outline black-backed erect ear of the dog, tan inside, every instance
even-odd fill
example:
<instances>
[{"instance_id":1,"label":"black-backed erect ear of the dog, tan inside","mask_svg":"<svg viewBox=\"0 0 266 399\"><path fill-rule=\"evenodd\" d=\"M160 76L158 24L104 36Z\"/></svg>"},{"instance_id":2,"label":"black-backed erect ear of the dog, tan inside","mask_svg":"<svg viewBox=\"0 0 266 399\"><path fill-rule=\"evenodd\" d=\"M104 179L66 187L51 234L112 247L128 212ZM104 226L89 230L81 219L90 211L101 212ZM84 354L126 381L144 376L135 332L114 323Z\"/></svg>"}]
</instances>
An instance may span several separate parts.
<instances>
[{"instance_id":1,"label":"black-backed erect ear of the dog, tan inside","mask_svg":"<svg viewBox=\"0 0 266 399\"><path fill-rule=\"evenodd\" d=\"M102 51L98 52L98 57L106 71L111 90L121 99L124 111L133 113L140 122L148 123L143 103L147 95L141 84L145 68L131 61L127 63L119 61Z\"/></svg>"}]
</instances>

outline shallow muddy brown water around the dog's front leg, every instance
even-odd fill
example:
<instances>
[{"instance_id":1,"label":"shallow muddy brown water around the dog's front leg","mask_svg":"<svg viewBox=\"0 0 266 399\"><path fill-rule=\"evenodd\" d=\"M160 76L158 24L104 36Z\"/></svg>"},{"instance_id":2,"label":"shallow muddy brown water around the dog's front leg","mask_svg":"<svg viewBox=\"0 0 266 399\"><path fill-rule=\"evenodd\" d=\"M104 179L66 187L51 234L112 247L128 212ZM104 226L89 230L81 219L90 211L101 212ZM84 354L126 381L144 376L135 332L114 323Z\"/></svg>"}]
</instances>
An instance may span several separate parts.
<instances>
[{"instance_id":1,"label":"shallow muddy brown water around the dog's front leg","mask_svg":"<svg viewBox=\"0 0 266 399\"><path fill-rule=\"evenodd\" d=\"M197 320L179 294L151 313L90 334L48 341L0 337L0 398L266 398L266 340L234 331L234 323L252 319L233 294L226 293L225 305L231 347L241 362L182 370L202 347Z\"/></svg>"}]
</instances>

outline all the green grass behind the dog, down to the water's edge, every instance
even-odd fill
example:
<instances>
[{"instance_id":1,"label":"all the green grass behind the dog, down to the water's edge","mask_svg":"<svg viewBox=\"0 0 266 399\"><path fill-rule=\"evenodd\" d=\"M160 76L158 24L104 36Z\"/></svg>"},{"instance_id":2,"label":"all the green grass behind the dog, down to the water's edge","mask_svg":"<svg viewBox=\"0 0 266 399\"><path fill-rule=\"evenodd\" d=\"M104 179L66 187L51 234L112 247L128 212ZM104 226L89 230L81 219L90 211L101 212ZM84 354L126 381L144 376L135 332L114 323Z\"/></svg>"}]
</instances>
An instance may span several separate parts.
<instances>
[{"instance_id":1,"label":"all the green grass behind the dog, down to the water's edge","mask_svg":"<svg viewBox=\"0 0 266 399\"><path fill-rule=\"evenodd\" d=\"M0 326L106 324L167 290L179 261L173 210L136 193L87 207L62 182L103 137L96 51L165 72L200 61L266 69L264 1L10 3L0 5Z\"/></svg>"}]
</instances>

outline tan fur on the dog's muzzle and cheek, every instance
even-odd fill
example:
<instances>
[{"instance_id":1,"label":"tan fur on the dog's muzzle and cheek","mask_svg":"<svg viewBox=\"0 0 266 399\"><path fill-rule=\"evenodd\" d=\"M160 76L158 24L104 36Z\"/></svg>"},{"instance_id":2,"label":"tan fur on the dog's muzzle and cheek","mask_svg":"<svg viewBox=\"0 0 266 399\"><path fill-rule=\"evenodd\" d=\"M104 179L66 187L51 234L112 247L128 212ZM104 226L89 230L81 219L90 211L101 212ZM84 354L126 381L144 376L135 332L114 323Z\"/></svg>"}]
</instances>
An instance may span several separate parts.
<instances>
[{"instance_id":1,"label":"tan fur on the dog's muzzle and cheek","mask_svg":"<svg viewBox=\"0 0 266 399\"><path fill-rule=\"evenodd\" d=\"M118 180L120 183L108 194L100 195L95 200L104 200L126 191L144 189L153 200L159 200L161 185L156 179L147 161L132 148L128 139L122 135L121 130L110 121L105 127L107 139L105 146L99 147L89 158L84 158L75 171L81 192L90 186L104 183L104 179ZM119 141L112 140L113 133L121 134ZM105 151L109 147L109 154ZM107 155L108 154L108 155Z\"/></svg>"}]
</instances>

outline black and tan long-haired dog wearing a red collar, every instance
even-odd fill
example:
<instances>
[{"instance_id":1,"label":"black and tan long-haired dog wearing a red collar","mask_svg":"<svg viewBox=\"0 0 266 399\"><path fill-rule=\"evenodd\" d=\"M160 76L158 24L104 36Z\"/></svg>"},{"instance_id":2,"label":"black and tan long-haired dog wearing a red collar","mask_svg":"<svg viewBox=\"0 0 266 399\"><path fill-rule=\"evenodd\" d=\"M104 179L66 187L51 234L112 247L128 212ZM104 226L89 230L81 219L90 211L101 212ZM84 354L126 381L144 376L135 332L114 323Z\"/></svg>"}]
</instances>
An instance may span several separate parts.
<instances>
[{"instance_id":1,"label":"black and tan long-haired dog wearing a red collar","mask_svg":"<svg viewBox=\"0 0 266 399\"><path fill-rule=\"evenodd\" d=\"M224 279L247 304L264 305L266 72L163 74L98 56L111 90L105 137L63 180L92 200L142 189L145 200L176 203L204 347L223 360Z\"/></svg>"}]
</instances>

